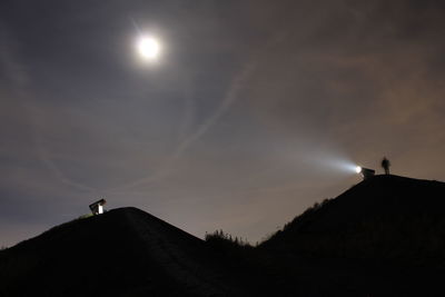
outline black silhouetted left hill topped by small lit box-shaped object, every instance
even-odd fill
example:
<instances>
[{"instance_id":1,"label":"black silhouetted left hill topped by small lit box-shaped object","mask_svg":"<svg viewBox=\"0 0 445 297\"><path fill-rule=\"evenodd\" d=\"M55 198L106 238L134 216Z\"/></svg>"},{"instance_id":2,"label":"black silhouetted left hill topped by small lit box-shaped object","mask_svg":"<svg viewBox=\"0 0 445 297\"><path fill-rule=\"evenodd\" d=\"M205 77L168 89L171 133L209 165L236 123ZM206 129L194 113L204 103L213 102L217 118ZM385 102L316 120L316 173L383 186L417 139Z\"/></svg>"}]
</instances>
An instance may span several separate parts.
<instances>
[{"instance_id":1,"label":"black silhouetted left hill topped by small lit box-shaped object","mask_svg":"<svg viewBox=\"0 0 445 297\"><path fill-rule=\"evenodd\" d=\"M0 296L243 295L205 242L136 208L75 220L0 254Z\"/></svg>"}]
</instances>

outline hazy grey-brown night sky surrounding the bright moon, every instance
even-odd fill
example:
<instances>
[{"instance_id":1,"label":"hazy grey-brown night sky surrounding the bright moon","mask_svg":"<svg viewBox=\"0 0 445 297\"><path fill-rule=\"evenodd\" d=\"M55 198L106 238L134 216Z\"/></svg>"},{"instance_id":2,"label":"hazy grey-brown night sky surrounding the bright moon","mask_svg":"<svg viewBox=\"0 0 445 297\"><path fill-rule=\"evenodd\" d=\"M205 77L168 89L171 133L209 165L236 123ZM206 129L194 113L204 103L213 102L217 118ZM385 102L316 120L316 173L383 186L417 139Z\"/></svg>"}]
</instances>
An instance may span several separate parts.
<instances>
[{"instance_id":1,"label":"hazy grey-brown night sky surrounding the bright moon","mask_svg":"<svg viewBox=\"0 0 445 297\"><path fill-rule=\"evenodd\" d=\"M414 0L1 1L0 245L100 198L255 242L357 184L355 164L445 180L444 17Z\"/></svg>"}]
</instances>

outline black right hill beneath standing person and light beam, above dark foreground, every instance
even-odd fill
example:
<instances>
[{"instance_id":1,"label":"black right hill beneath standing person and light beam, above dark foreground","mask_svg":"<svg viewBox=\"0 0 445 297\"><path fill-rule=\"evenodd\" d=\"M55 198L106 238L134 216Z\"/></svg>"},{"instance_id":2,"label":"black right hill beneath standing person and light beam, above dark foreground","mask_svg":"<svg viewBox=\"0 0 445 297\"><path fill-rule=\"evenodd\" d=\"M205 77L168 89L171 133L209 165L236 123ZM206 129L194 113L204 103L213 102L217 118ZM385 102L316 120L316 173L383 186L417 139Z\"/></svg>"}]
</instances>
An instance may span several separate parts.
<instances>
[{"instance_id":1,"label":"black right hill beneath standing person and light beam, above dark foreground","mask_svg":"<svg viewBox=\"0 0 445 297\"><path fill-rule=\"evenodd\" d=\"M308 209L263 246L305 255L444 265L445 184L376 176Z\"/></svg>"}]
</instances>

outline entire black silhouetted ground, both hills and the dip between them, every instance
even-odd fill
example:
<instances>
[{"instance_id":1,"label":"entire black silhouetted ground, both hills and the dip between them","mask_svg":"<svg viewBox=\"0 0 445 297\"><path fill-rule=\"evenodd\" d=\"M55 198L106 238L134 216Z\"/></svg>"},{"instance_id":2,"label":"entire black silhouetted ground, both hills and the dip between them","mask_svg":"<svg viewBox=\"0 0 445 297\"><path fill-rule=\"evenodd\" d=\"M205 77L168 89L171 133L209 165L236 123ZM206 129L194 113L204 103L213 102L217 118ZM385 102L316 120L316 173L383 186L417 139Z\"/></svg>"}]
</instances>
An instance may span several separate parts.
<instances>
[{"instance_id":1,"label":"entire black silhouetted ground, both hills and the dip between them","mask_svg":"<svg viewBox=\"0 0 445 297\"><path fill-rule=\"evenodd\" d=\"M445 184L376 176L259 247L136 208L0 251L0 296L443 296Z\"/></svg>"}]
</instances>

